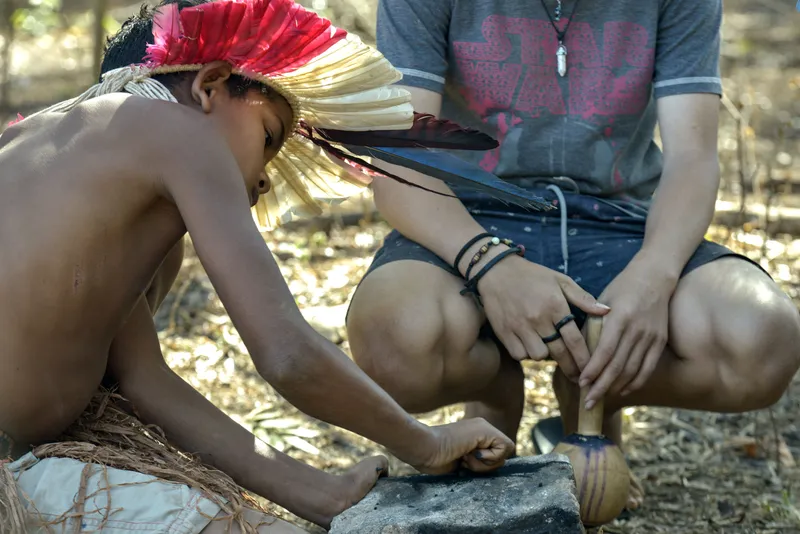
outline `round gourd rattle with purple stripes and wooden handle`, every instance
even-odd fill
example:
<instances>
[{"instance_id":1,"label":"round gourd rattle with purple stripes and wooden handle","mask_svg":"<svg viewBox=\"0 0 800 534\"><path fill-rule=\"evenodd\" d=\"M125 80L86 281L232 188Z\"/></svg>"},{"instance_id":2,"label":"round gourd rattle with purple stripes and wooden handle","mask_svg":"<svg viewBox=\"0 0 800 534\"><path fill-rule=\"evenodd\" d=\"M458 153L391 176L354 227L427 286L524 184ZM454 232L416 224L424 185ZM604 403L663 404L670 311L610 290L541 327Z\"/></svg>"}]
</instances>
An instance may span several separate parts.
<instances>
[{"instance_id":1,"label":"round gourd rattle with purple stripes and wooden handle","mask_svg":"<svg viewBox=\"0 0 800 534\"><path fill-rule=\"evenodd\" d=\"M600 340L603 318L587 319L587 344L594 352ZM625 508L630 491L630 473L620 448L603 435L603 399L586 409L589 387L581 388L578 431L553 449L572 464L581 521L599 526L613 521Z\"/></svg>"}]
</instances>

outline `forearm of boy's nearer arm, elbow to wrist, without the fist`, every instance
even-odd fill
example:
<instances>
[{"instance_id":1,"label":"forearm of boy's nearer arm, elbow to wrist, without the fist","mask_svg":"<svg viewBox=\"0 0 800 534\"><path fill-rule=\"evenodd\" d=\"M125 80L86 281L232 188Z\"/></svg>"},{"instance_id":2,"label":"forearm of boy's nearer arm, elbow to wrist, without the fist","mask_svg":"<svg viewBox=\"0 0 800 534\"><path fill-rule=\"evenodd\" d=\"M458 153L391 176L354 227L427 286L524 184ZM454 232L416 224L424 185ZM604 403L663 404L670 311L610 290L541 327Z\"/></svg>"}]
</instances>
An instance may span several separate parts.
<instances>
[{"instance_id":1,"label":"forearm of boy's nearer arm, elbow to wrist, without the fist","mask_svg":"<svg viewBox=\"0 0 800 534\"><path fill-rule=\"evenodd\" d=\"M310 326L300 324L281 338L286 341L270 349L275 354L254 354L253 361L259 374L297 409L383 445L412 465L421 465L423 455L435 449L429 427Z\"/></svg>"}]
</instances>

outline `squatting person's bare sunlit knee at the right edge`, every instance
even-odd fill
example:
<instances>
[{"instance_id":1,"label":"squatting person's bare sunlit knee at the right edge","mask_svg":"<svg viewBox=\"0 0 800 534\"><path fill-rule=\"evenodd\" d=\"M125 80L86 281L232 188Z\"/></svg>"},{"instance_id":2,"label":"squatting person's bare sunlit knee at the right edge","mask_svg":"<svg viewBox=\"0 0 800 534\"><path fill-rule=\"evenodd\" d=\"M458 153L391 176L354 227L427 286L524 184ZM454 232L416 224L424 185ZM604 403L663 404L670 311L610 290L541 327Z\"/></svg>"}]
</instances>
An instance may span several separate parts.
<instances>
[{"instance_id":1,"label":"squatting person's bare sunlit knee at the right edge","mask_svg":"<svg viewBox=\"0 0 800 534\"><path fill-rule=\"evenodd\" d=\"M737 260L679 288L670 344L691 364L692 389L720 411L768 407L800 366L800 314L778 286Z\"/></svg>"}]
</instances>

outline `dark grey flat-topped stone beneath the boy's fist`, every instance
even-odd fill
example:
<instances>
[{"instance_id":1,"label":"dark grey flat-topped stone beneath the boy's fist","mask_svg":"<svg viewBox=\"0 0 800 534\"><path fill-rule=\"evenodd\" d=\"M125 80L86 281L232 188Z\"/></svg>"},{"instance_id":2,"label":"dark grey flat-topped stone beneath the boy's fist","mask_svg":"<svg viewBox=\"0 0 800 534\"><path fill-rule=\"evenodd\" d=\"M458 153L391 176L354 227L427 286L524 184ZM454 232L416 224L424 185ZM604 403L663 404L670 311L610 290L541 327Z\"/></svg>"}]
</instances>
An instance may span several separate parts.
<instances>
[{"instance_id":1,"label":"dark grey flat-topped stone beneath the boy's fist","mask_svg":"<svg viewBox=\"0 0 800 534\"><path fill-rule=\"evenodd\" d=\"M572 466L561 454L515 458L488 475L378 481L331 534L584 534Z\"/></svg>"}]
</instances>

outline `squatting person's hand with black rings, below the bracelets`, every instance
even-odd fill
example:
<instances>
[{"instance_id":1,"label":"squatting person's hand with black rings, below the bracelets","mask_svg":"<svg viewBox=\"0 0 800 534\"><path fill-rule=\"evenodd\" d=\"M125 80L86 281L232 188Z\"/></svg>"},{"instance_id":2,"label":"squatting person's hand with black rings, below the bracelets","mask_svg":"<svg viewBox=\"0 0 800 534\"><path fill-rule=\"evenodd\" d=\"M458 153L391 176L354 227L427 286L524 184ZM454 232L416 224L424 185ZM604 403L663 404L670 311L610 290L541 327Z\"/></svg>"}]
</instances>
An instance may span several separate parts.
<instances>
[{"instance_id":1,"label":"squatting person's hand with black rings, below the bracelets","mask_svg":"<svg viewBox=\"0 0 800 534\"><path fill-rule=\"evenodd\" d=\"M515 360L541 361L549 355L567 377L577 381L589 361L589 349L575 322L561 327L560 339L547 344L543 339L556 333L555 325L570 314L570 304L591 315L605 315L607 306L570 277L519 256L504 258L492 267L478 282L478 290L489 323Z\"/></svg>"}]
</instances>

